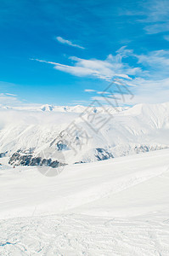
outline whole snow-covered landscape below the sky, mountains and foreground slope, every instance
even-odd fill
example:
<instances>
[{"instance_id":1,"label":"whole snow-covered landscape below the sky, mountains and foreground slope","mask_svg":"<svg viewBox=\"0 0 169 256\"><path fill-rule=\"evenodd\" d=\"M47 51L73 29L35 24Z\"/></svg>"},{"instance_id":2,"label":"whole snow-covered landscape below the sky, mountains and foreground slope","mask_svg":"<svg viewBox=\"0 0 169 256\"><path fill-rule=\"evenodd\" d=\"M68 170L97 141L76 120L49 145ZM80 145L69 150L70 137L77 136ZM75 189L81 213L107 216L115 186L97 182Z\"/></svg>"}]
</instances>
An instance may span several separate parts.
<instances>
[{"instance_id":1,"label":"whole snow-covered landscape below the sky, mountains and foreground slope","mask_svg":"<svg viewBox=\"0 0 169 256\"><path fill-rule=\"evenodd\" d=\"M169 255L169 148L64 166L168 147L168 113L0 111L0 255Z\"/></svg>"}]
</instances>

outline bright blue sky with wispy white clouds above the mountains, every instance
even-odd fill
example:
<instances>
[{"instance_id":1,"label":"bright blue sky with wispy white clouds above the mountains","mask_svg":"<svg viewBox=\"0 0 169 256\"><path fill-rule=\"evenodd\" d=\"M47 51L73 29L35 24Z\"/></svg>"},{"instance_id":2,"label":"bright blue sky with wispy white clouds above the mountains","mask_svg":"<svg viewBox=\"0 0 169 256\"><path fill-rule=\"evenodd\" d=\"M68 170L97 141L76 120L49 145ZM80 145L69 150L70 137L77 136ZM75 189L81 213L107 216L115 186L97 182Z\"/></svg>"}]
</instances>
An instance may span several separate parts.
<instances>
[{"instance_id":1,"label":"bright blue sky with wispy white clouds above the mountains","mask_svg":"<svg viewBox=\"0 0 169 256\"><path fill-rule=\"evenodd\" d=\"M0 1L0 104L169 101L169 1Z\"/></svg>"}]
</instances>

